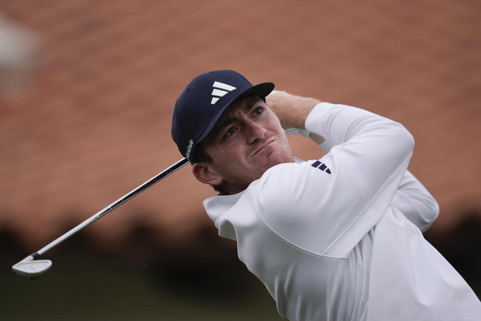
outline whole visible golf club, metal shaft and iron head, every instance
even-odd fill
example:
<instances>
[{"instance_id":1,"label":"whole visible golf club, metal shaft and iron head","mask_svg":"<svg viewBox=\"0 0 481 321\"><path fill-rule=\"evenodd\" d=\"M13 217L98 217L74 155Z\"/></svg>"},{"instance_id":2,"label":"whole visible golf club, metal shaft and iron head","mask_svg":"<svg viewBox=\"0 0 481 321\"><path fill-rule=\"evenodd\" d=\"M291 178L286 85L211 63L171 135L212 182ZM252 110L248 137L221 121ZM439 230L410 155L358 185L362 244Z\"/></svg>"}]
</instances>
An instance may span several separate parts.
<instances>
[{"instance_id":1,"label":"whole visible golf club, metal shaft and iron head","mask_svg":"<svg viewBox=\"0 0 481 321\"><path fill-rule=\"evenodd\" d=\"M29 278L29 279L35 279L37 277L40 277L42 274L47 272L50 269L50 267L52 266L51 260L37 260L37 258L40 255L47 252L48 250L50 250L51 248L53 248L57 244L61 243L62 241L66 240L70 236L74 235L75 233L77 233L78 231L80 231L81 229L86 227L87 225L95 222L96 220L98 220L99 218L101 218L105 214L109 213L113 209L116 209L120 205L124 204L125 202L127 202L128 200L133 198L134 196L136 196L136 195L140 194L141 192L145 191L146 189L148 189L149 187L151 187L155 183L161 181L162 179L166 178L167 176L174 173L178 169L184 167L185 165L187 165L187 163L189 163L187 158L180 159L180 161L173 164L171 167L167 168L166 170L157 174L156 176L154 176L153 178L151 178L150 180L148 180L144 184L140 185L136 189L134 189L131 192L127 193L126 195L122 196L120 199L113 202L112 204L110 204L109 206L104 208L103 210L97 212L95 215L93 215L89 219L85 220L83 223L77 225L76 227L74 227L73 229L71 229L70 231L65 233L64 235L62 235L59 238L57 238L56 240L50 242L47 246L44 246L42 249L40 249L37 252L32 253L31 255L27 256L26 258L24 258L22 261L18 262L17 264L14 264L12 266L12 271L17 275L20 275L20 276L23 276L23 277L26 277L26 278Z\"/></svg>"}]
</instances>

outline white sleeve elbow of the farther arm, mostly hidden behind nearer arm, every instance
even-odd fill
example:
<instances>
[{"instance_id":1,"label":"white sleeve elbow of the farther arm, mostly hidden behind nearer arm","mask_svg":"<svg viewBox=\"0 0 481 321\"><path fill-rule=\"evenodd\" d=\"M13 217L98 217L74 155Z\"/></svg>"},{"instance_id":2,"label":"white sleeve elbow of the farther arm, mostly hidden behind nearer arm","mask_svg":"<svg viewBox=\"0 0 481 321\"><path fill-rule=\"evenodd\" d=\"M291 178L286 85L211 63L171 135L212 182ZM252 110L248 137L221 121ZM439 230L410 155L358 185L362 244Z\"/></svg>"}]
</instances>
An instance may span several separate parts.
<instances>
[{"instance_id":1,"label":"white sleeve elbow of the farther arm, mostly hidden behind nearer arm","mask_svg":"<svg viewBox=\"0 0 481 321\"><path fill-rule=\"evenodd\" d=\"M391 204L421 232L425 232L439 214L436 200L409 171L404 174Z\"/></svg>"}]
</instances>

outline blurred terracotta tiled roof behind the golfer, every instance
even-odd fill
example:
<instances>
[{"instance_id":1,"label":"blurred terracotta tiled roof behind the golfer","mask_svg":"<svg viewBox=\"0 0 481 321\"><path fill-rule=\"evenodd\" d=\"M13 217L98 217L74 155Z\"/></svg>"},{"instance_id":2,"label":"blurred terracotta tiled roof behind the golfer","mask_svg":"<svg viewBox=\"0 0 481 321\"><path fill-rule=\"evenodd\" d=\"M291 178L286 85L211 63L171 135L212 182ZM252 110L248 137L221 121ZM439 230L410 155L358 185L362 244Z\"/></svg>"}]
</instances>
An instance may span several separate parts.
<instances>
[{"instance_id":1,"label":"blurred terracotta tiled roof behind the golfer","mask_svg":"<svg viewBox=\"0 0 481 321\"><path fill-rule=\"evenodd\" d=\"M40 44L20 93L0 87L0 229L32 250L176 162L173 103L223 68L402 122L410 170L441 206L433 233L481 208L479 2L30 0L0 12ZM138 226L189 242L212 226L212 195L184 168L85 232L105 246Z\"/></svg>"}]
</instances>

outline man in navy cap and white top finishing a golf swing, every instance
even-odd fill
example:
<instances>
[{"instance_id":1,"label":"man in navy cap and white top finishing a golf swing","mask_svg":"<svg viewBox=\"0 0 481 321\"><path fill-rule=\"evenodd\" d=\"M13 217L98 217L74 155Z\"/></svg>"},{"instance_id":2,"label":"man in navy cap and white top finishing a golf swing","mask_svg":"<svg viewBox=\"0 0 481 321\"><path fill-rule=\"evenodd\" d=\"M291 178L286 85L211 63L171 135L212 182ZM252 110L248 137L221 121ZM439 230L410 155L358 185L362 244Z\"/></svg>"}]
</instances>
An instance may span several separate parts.
<instances>
[{"instance_id":1,"label":"man in navy cap and white top finishing a golf swing","mask_svg":"<svg viewBox=\"0 0 481 321\"><path fill-rule=\"evenodd\" d=\"M438 205L407 171L399 123L359 108L253 86L230 70L195 77L172 137L219 235L290 320L480 320L481 302L423 237ZM293 157L286 130L320 159Z\"/></svg>"}]
</instances>

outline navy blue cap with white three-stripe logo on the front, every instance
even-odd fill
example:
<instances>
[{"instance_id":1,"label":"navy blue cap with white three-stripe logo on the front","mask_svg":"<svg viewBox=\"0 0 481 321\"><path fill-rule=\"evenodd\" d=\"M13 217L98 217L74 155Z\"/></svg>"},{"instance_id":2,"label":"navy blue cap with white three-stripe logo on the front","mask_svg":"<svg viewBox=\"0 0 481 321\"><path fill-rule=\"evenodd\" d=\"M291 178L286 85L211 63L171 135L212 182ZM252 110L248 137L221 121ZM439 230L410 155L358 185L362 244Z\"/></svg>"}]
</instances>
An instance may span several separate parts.
<instances>
[{"instance_id":1,"label":"navy blue cap with white three-stripe logo on the front","mask_svg":"<svg viewBox=\"0 0 481 321\"><path fill-rule=\"evenodd\" d=\"M192 79L177 98L172 117L172 138L180 153L193 163L196 145L231 103L251 95L265 100L273 89L272 82L253 86L232 70L211 71Z\"/></svg>"}]
</instances>

